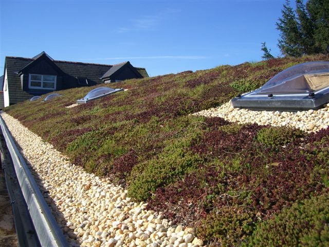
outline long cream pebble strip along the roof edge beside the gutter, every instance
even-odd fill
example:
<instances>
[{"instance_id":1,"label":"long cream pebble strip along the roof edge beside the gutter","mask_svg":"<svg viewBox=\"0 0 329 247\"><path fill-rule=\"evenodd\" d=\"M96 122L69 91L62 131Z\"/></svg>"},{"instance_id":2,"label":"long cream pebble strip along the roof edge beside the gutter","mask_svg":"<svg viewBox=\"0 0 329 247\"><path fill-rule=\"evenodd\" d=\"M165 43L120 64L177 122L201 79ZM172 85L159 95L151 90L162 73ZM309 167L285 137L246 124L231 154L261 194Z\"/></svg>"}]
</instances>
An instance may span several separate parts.
<instances>
[{"instance_id":1,"label":"long cream pebble strip along the roof edge beside the gutter","mask_svg":"<svg viewBox=\"0 0 329 247\"><path fill-rule=\"evenodd\" d=\"M202 246L195 229L173 225L162 214L145 210L127 191L69 163L6 113L6 125L71 246ZM37 180L38 183L38 180Z\"/></svg>"}]
</instances>

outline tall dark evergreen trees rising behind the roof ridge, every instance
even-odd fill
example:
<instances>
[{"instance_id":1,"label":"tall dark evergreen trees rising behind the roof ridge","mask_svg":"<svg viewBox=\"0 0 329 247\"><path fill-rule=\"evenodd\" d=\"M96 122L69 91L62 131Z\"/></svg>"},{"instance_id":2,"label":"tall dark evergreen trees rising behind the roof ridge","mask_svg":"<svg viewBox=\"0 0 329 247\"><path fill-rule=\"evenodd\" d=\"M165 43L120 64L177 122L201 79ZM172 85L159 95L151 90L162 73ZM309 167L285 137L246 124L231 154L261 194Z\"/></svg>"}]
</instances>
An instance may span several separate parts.
<instances>
[{"instance_id":1,"label":"tall dark evergreen trees rising behind the roof ridge","mask_svg":"<svg viewBox=\"0 0 329 247\"><path fill-rule=\"evenodd\" d=\"M329 52L329 0L296 0L296 10L289 0L283 5L277 29L281 32L278 47L283 55Z\"/></svg>"}]
</instances>

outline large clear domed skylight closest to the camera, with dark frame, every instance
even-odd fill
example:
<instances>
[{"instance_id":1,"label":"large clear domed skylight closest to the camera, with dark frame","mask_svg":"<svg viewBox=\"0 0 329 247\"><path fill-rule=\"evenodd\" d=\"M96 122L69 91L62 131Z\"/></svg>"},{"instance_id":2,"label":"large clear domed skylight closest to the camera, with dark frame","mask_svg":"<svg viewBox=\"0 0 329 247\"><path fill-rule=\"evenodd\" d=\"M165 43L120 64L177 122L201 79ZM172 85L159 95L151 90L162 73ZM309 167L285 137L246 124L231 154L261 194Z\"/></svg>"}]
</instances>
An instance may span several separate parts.
<instances>
[{"instance_id":1,"label":"large clear domed skylight closest to the camera, with dark frame","mask_svg":"<svg viewBox=\"0 0 329 247\"><path fill-rule=\"evenodd\" d=\"M268 111L317 110L329 102L329 62L289 67L260 89L232 99L234 108Z\"/></svg>"}]
</instances>

